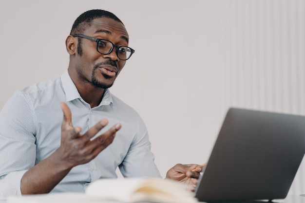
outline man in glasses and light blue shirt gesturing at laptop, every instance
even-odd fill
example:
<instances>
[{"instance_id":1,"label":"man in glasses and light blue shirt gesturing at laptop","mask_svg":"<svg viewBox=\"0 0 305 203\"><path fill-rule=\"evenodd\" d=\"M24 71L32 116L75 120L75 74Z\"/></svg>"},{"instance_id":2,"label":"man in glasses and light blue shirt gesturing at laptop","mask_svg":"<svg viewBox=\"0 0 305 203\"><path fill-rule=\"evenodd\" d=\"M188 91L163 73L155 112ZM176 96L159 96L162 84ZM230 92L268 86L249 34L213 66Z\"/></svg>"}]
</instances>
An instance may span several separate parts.
<instances>
[{"instance_id":1,"label":"man in glasses and light blue shirt gesturing at laptop","mask_svg":"<svg viewBox=\"0 0 305 203\"><path fill-rule=\"evenodd\" d=\"M116 167L124 177L161 177L142 119L109 92L134 53L128 41L114 14L87 11L66 39L68 70L9 99L0 113L1 197L83 192L116 178ZM196 185L200 171L178 164L167 178Z\"/></svg>"}]
</instances>

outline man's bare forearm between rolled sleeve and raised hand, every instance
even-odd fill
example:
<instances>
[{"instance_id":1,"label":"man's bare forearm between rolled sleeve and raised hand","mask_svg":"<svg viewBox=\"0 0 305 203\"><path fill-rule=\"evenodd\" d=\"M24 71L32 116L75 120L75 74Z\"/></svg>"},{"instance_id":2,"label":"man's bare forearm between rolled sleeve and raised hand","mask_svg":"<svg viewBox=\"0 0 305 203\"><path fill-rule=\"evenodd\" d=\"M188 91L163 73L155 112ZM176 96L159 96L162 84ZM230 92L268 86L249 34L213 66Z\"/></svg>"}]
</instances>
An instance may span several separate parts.
<instances>
[{"instance_id":1,"label":"man's bare forearm between rolled sleeve and raised hand","mask_svg":"<svg viewBox=\"0 0 305 203\"><path fill-rule=\"evenodd\" d=\"M21 178L21 194L49 193L72 169L61 161L57 151L28 170Z\"/></svg>"}]
</instances>

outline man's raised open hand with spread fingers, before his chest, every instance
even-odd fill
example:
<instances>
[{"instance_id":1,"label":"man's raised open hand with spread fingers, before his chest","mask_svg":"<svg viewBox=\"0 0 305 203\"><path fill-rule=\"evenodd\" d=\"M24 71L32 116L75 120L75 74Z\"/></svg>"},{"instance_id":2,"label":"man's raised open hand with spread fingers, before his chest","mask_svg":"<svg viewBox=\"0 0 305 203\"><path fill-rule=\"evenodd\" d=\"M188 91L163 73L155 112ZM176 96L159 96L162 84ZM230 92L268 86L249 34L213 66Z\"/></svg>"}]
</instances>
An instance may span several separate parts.
<instances>
[{"instance_id":1,"label":"man's raised open hand with spread fingers, before his chest","mask_svg":"<svg viewBox=\"0 0 305 203\"><path fill-rule=\"evenodd\" d=\"M63 121L61 125L61 143L57 149L61 154L61 159L71 167L85 164L94 159L102 150L107 148L114 140L115 133L121 128L120 124L115 124L105 133L92 139L107 124L107 119L100 120L95 126L84 134L80 134L79 127L73 127L72 115L67 104L60 103L63 111Z\"/></svg>"}]
</instances>

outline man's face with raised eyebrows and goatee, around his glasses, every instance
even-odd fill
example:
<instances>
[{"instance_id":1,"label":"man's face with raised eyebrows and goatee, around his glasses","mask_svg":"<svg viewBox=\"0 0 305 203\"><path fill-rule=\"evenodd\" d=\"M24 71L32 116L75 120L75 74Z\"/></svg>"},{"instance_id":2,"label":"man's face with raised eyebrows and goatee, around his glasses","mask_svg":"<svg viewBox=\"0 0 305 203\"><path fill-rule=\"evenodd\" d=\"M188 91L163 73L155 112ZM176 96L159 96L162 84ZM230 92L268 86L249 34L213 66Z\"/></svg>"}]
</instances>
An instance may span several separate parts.
<instances>
[{"instance_id":1,"label":"man's face with raised eyebrows and goatee, around his glasses","mask_svg":"<svg viewBox=\"0 0 305 203\"><path fill-rule=\"evenodd\" d=\"M128 46L129 36L124 25L111 18L95 18L84 33L78 34L107 39L117 46ZM117 57L116 48L110 54L102 55L96 51L94 40L81 38L77 49L76 72L79 79L95 87L110 88L126 63Z\"/></svg>"}]
</instances>

